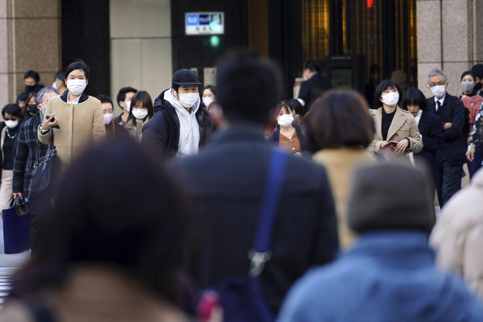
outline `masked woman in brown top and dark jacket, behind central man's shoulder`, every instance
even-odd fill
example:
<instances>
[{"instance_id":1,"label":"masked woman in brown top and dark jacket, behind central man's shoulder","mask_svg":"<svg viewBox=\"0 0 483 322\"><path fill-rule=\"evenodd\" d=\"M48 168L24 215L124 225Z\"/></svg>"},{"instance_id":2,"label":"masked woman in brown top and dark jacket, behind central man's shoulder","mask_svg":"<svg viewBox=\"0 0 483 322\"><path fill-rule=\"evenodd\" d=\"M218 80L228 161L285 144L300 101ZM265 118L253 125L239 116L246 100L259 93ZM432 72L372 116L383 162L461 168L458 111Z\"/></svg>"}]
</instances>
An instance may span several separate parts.
<instances>
[{"instance_id":1,"label":"masked woman in brown top and dark jacket, behind central man's shoulder","mask_svg":"<svg viewBox=\"0 0 483 322\"><path fill-rule=\"evenodd\" d=\"M293 125L293 111L287 101L278 103L275 108L277 126L268 140L278 145L279 148L294 155L300 156L300 152L306 150L305 132L300 126Z\"/></svg>"}]
</instances>

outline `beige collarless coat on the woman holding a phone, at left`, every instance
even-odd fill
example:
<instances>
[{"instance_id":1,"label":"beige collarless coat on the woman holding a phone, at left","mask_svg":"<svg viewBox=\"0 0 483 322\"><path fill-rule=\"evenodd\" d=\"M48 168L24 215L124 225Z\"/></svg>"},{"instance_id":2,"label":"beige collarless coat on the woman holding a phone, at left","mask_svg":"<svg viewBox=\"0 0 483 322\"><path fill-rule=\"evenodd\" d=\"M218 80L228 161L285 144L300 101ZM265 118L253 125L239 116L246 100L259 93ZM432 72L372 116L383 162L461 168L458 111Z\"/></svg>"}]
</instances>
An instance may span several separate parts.
<instances>
[{"instance_id":1,"label":"beige collarless coat on the woman holding a phone, at left","mask_svg":"<svg viewBox=\"0 0 483 322\"><path fill-rule=\"evenodd\" d=\"M67 104L60 96L52 97L45 114L52 113L55 113L60 129L50 129L42 134L41 124L38 137L41 143L48 144L53 130L54 145L62 166L70 164L72 158L81 154L93 142L106 138L101 101L92 96L78 104Z\"/></svg>"}]
</instances>

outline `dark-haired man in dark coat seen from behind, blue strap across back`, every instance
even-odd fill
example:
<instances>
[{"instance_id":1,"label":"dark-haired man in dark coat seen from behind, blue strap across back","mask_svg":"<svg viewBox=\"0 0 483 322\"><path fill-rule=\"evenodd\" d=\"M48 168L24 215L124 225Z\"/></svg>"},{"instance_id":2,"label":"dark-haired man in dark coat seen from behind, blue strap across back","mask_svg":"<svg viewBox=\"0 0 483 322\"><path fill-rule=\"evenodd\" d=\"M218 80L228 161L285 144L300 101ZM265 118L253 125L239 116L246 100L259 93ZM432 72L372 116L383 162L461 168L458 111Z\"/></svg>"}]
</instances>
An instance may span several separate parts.
<instances>
[{"instance_id":1,"label":"dark-haired man in dark coat seen from behind, blue strap across back","mask_svg":"<svg viewBox=\"0 0 483 322\"><path fill-rule=\"evenodd\" d=\"M217 101L228 128L216 132L196 156L177 159L191 181L197 238L191 274L201 287L230 276L248 276L269 160L264 136L281 93L279 71L254 54L232 53L217 66ZM246 93L257 100L247 110ZM334 202L324 167L287 156L271 238L271 259L260 275L273 313L309 267L334 259L338 235Z\"/></svg>"}]
</instances>

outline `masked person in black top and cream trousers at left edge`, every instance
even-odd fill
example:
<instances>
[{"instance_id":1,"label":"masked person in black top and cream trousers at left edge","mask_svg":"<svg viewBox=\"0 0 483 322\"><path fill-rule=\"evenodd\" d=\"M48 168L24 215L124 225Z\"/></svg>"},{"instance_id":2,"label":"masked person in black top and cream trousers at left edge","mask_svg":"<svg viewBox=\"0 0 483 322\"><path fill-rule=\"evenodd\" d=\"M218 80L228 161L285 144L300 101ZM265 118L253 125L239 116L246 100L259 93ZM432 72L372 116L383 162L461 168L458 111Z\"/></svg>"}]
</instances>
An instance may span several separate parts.
<instances>
[{"instance_id":1,"label":"masked person in black top and cream trousers at left edge","mask_svg":"<svg viewBox=\"0 0 483 322\"><path fill-rule=\"evenodd\" d=\"M16 104L8 104L2 109L4 122L0 123L0 152L2 181L0 183L0 210L8 209L12 203L12 180L14 177L14 144L20 123L24 119L22 110Z\"/></svg>"}]
</instances>

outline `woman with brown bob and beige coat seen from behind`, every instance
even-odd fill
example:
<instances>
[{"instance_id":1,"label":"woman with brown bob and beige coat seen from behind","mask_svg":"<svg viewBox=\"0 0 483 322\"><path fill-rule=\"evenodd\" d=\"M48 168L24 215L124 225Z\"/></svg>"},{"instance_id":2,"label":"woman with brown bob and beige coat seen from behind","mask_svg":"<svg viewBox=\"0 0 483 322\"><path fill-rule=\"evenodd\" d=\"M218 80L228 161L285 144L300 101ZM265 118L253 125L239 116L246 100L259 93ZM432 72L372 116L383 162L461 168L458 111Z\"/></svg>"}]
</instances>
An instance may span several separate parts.
<instances>
[{"instance_id":1,"label":"woman with brown bob and beige coat seen from behind","mask_svg":"<svg viewBox=\"0 0 483 322\"><path fill-rule=\"evenodd\" d=\"M367 146L374 136L374 121L366 100L353 90L329 91L316 100L307 117L313 159L326 167L337 212L339 244L352 244L347 224L347 202L355 169L376 162Z\"/></svg>"}]
</instances>

